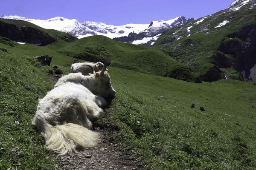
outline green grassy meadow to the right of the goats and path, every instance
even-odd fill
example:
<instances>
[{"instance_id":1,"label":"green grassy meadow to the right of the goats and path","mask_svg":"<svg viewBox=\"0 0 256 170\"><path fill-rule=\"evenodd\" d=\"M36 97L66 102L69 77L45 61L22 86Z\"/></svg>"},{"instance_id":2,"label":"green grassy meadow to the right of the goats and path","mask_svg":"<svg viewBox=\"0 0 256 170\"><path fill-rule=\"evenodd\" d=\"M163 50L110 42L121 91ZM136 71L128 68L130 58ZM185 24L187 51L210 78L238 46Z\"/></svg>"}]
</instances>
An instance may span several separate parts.
<instances>
[{"instance_id":1,"label":"green grassy meadow to the right of the goats and path","mask_svg":"<svg viewBox=\"0 0 256 170\"><path fill-rule=\"evenodd\" d=\"M113 142L149 169L256 167L254 83L195 84L110 70L116 98L99 123L118 130Z\"/></svg>"}]
</instances>

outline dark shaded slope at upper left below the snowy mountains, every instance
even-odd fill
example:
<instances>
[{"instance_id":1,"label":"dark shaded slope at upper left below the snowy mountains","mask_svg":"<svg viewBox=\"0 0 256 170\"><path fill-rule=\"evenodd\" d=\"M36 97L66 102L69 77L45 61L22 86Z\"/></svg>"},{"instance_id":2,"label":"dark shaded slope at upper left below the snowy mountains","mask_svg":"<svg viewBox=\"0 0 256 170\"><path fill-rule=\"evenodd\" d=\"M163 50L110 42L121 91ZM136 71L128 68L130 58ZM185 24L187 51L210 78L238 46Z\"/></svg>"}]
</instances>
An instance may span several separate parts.
<instances>
[{"instance_id":1,"label":"dark shaded slope at upper left below the snowy mountains","mask_svg":"<svg viewBox=\"0 0 256 170\"><path fill-rule=\"evenodd\" d=\"M73 42L77 38L70 34L49 30L23 20L8 20L0 18L0 36L17 42L36 45L47 45L56 40Z\"/></svg>"}]
</instances>

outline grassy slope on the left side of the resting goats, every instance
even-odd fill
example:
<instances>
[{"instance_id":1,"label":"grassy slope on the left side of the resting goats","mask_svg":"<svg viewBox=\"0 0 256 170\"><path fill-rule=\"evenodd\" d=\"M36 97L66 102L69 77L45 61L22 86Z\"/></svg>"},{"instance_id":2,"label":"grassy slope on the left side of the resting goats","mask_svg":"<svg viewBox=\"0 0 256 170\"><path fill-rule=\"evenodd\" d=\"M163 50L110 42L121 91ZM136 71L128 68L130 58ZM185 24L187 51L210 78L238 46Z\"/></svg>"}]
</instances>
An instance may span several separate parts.
<instances>
[{"instance_id":1,"label":"grassy slope on the left side of the resting goats","mask_svg":"<svg viewBox=\"0 0 256 170\"><path fill-rule=\"evenodd\" d=\"M48 71L32 57L0 50L1 170L54 169L54 156L31 123L38 99L53 88Z\"/></svg>"}]
</instances>

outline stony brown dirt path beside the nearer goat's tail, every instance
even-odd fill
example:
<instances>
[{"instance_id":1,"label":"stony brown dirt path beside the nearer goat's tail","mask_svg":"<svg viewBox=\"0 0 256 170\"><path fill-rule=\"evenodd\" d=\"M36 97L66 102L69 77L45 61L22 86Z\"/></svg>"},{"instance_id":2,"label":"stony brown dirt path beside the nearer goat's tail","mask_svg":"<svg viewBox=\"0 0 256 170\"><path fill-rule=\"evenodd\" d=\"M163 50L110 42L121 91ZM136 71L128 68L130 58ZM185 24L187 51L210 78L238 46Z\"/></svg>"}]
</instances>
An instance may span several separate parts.
<instances>
[{"instance_id":1,"label":"stony brown dirt path beside the nearer goat's tail","mask_svg":"<svg viewBox=\"0 0 256 170\"><path fill-rule=\"evenodd\" d=\"M101 142L96 147L88 148L57 157L57 164L62 170L143 170L145 167L137 160L121 153L117 144L109 142L107 130L96 128L101 134Z\"/></svg>"}]
</instances>

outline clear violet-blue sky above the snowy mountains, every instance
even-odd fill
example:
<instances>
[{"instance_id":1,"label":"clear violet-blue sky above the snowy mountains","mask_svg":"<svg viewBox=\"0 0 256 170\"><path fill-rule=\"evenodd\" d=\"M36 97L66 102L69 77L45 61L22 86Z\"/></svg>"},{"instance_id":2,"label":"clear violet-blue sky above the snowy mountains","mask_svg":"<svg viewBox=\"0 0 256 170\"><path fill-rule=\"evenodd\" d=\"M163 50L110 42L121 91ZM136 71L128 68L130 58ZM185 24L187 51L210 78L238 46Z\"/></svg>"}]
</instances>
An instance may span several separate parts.
<instances>
[{"instance_id":1,"label":"clear violet-blue sky above the snowy mountains","mask_svg":"<svg viewBox=\"0 0 256 170\"><path fill-rule=\"evenodd\" d=\"M200 18L230 6L234 0L0 0L2 15L47 20L65 17L121 26L149 24L175 17Z\"/></svg>"}]
</instances>

